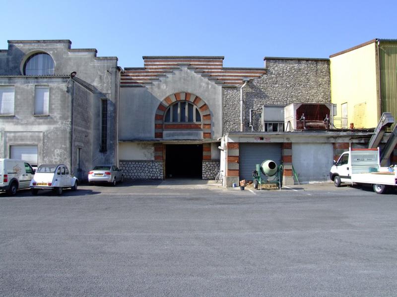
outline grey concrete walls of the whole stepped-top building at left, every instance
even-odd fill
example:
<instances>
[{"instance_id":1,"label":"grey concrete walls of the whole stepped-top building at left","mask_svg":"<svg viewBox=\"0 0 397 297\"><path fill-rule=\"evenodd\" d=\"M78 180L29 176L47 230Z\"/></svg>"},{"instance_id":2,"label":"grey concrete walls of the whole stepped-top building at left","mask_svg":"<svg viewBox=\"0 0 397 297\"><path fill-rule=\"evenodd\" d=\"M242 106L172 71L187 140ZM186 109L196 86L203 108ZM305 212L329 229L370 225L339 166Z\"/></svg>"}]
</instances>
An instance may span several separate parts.
<instances>
[{"instance_id":1,"label":"grey concrete walls of the whole stepped-top building at left","mask_svg":"<svg viewBox=\"0 0 397 297\"><path fill-rule=\"evenodd\" d=\"M54 76L23 76L24 62L31 54L39 51L46 52L53 58ZM67 40L10 41L8 50L0 52L0 75L9 76L0 78L0 85L15 85L15 117L0 118L0 133L4 134L7 131L42 132L44 138L43 144L40 145L43 148L41 161L55 162L60 158L65 159L67 156L67 162L70 162L70 138L67 135L70 131L71 107L68 105L70 104L70 93L66 93L66 82L72 71L76 71L76 77L88 83L90 89L89 92L82 91L84 88L81 87L82 89L79 88L80 91L77 91L78 94L74 97L76 104L74 130L81 129L81 134L88 134L89 141L85 142L84 139L77 137L78 132L73 133L76 136L74 139L76 144L73 149L77 146L81 147L82 143L84 148L90 147L89 152L84 150L84 166L91 167L92 163L96 162L116 163L119 88L117 58L97 57L96 49L71 49L71 43ZM34 86L36 84L51 84L49 117L33 116ZM87 92L93 95L88 95ZM108 151L106 154L99 151L101 98L109 99ZM27 102L33 103L26 104ZM4 150L7 149L6 145L2 145L1 154L4 155ZM73 151L73 162L76 160L76 153ZM70 164L68 163L68 165ZM76 164L73 164L73 169L77 169Z\"/></svg>"}]
</instances>

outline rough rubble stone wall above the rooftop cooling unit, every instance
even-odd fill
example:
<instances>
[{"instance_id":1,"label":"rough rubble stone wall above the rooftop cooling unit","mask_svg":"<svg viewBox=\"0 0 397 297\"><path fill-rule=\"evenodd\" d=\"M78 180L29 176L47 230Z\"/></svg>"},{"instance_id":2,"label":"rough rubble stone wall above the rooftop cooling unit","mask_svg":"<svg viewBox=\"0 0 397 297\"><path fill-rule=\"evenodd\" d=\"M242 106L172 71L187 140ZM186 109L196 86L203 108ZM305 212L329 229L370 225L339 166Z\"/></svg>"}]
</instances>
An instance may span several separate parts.
<instances>
[{"instance_id":1,"label":"rough rubble stone wall above the rooftop cooling unit","mask_svg":"<svg viewBox=\"0 0 397 297\"><path fill-rule=\"evenodd\" d=\"M262 131L262 105L290 103L330 103L331 80L329 60L266 59L267 73L251 80L243 88L244 131L248 127L250 109L254 131ZM223 133L240 131L240 88L223 88Z\"/></svg>"}]
</instances>

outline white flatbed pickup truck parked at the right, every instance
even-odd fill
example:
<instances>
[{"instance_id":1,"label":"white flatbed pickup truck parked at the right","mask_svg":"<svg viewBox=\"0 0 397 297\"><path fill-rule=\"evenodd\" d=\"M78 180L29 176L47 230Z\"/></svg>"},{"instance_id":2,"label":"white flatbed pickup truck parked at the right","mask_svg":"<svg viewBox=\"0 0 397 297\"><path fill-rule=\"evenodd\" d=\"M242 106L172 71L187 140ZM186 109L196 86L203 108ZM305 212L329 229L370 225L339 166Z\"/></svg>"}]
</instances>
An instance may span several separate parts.
<instances>
[{"instance_id":1,"label":"white flatbed pickup truck parked at the right","mask_svg":"<svg viewBox=\"0 0 397 297\"><path fill-rule=\"evenodd\" d=\"M335 187L341 183L371 184L377 194L385 193L387 187L397 186L397 168L381 167L379 148L349 148L333 161L330 178Z\"/></svg>"}]
</instances>

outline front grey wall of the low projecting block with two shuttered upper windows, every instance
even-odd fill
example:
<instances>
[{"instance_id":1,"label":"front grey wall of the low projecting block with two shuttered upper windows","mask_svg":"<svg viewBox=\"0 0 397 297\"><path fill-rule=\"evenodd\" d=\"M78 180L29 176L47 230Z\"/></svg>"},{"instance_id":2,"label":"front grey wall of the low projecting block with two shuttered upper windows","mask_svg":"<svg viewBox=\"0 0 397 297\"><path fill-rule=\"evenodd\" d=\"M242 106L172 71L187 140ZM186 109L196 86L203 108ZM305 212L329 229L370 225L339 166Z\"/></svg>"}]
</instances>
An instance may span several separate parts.
<instances>
[{"instance_id":1,"label":"front grey wall of the low projecting block with two shuttered upper windows","mask_svg":"<svg viewBox=\"0 0 397 297\"><path fill-rule=\"evenodd\" d=\"M10 145L38 145L39 164L70 165L70 96L67 78L0 78L0 85L15 88L14 116L0 117L0 154L8 157ZM49 116L34 115L35 85L48 85Z\"/></svg>"}]
</instances>

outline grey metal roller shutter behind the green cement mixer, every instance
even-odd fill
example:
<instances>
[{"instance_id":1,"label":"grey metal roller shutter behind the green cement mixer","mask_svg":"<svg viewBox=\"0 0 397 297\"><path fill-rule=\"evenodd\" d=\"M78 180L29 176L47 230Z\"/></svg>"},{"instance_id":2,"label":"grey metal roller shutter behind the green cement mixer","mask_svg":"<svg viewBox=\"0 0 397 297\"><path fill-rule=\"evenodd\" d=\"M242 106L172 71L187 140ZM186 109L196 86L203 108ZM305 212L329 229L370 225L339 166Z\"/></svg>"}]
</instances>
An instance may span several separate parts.
<instances>
[{"instance_id":1,"label":"grey metal roller shutter behind the green cement mixer","mask_svg":"<svg viewBox=\"0 0 397 297\"><path fill-rule=\"evenodd\" d=\"M277 165L281 164L281 143L240 143L239 155L240 180L252 180L252 172L256 164L262 164L265 160L273 160Z\"/></svg>"}]
</instances>

